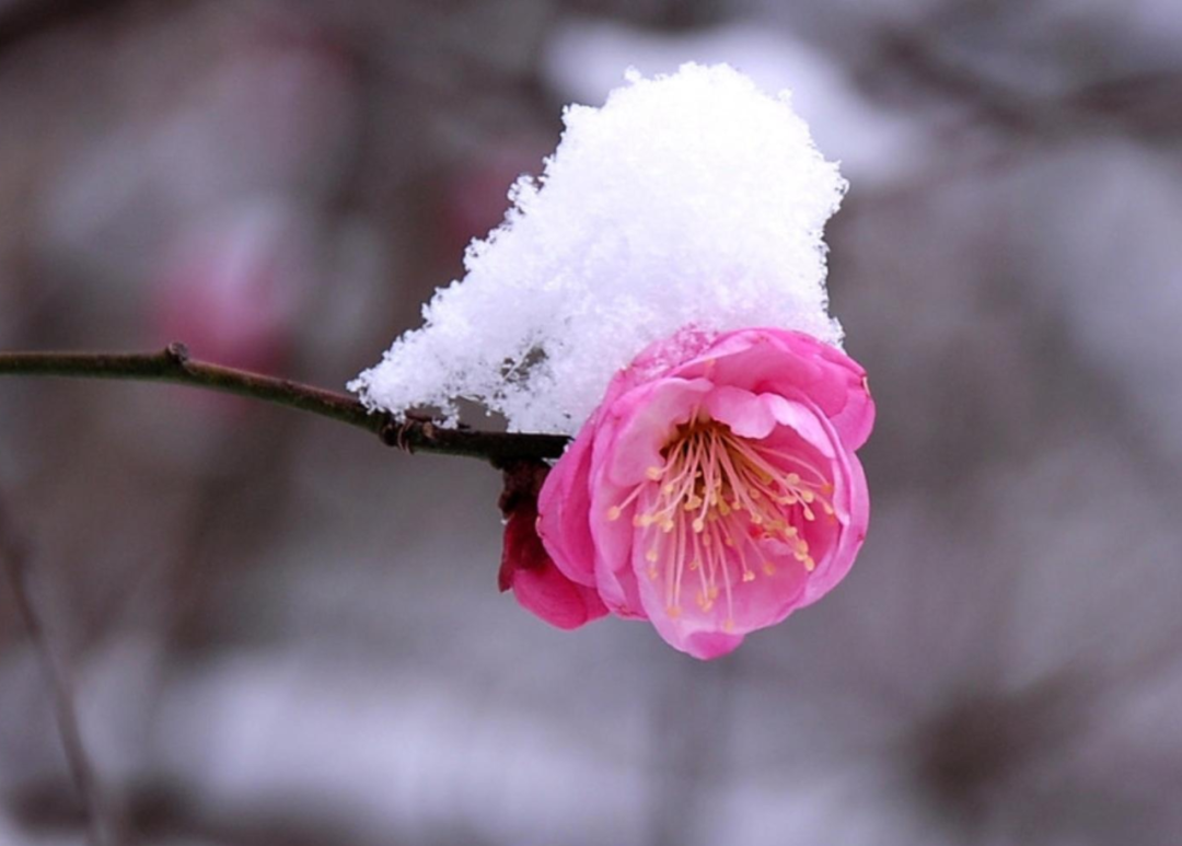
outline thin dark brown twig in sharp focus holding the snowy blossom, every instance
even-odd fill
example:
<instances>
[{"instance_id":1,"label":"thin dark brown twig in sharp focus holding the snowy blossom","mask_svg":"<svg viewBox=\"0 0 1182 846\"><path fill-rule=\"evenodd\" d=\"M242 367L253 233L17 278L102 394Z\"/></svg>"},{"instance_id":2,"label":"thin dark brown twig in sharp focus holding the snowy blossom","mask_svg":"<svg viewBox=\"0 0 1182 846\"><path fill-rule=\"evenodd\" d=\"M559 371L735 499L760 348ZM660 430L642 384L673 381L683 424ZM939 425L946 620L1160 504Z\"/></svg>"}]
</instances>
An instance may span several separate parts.
<instances>
[{"instance_id":1,"label":"thin dark brown twig in sharp focus holding the snowy blossom","mask_svg":"<svg viewBox=\"0 0 1182 846\"><path fill-rule=\"evenodd\" d=\"M557 458L567 443L561 435L449 429L421 417L396 421L385 412L369 411L346 393L191 359L183 344L169 344L160 352L0 352L0 376L173 382L310 411L366 429L387 445L408 453L485 458L499 467L528 458Z\"/></svg>"}]
</instances>

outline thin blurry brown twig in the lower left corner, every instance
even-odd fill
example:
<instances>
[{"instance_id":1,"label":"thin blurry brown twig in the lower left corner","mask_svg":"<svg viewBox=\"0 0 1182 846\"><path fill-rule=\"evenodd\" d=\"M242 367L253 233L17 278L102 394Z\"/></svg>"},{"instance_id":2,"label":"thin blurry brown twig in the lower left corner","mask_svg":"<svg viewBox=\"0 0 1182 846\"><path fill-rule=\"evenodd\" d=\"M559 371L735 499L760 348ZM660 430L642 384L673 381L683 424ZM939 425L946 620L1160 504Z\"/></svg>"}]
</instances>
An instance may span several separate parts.
<instances>
[{"instance_id":1,"label":"thin blurry brown twig in the lower left corner","mask_svg":"<svg viewBox=\"0 0 1182 846\"><path fill-rule=\"evenodd\" d=\"M108 814L95 768L83 743L66 668L50 643L45 619L37 606L28 545L13 523L2 499L0 499L0 566L7 574L17 611L50 685L66 766L70 768L70 777L86 818L89 842L91 846L113 846L115 825Z\"/></svg>"}]
</instances>

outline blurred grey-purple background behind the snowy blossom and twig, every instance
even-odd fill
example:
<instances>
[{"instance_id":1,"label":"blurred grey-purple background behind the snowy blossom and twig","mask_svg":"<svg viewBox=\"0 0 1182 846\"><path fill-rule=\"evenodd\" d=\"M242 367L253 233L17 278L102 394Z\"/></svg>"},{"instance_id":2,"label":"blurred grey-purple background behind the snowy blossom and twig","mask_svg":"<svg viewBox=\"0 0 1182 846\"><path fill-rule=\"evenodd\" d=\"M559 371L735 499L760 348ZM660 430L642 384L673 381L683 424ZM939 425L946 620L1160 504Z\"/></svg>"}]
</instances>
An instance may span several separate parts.
<instances>
[{"instance_id":1,"label":"blurred grey-purple background behind the snowy blossom and twig","mask_svg":"<svg viewBox=\"0 0 1182 846\"><path fill-rule=\"evenodd\" d=\"M0 380L110 844L1182 842L1182 5L0 0L0 349L331 388L560 108L791 86L871 372L824 603L702 664L495 590L500 479L297 412ZM0 844L86 842L0 588Z\"/></svg>"}]
</instances>

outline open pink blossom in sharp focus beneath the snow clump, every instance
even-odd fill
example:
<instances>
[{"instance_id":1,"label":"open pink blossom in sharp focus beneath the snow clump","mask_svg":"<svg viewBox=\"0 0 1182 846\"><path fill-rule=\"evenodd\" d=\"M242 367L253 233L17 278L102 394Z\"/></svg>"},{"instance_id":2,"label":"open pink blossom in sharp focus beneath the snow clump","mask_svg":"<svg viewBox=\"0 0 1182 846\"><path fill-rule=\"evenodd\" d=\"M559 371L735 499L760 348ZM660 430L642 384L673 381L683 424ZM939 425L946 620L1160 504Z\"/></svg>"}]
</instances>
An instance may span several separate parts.
<instances>
[{"instance_id":1,"label":"open pink blossom in sharp focus beneath the snow clump","mask_svg":"<svg viewBox=\"0 0 1182 846\"><path fill-rule=\"evenodd\" d=\"M687 330L654 344L546 479L538 534L556 570L539 572L694 657L726 655L849 572L870 516L853 450L873 417L865 371L810 336ZM545 613L519 599L556 623L598 616L569 593L550 590Z\"/></svg>"}]
</instances>

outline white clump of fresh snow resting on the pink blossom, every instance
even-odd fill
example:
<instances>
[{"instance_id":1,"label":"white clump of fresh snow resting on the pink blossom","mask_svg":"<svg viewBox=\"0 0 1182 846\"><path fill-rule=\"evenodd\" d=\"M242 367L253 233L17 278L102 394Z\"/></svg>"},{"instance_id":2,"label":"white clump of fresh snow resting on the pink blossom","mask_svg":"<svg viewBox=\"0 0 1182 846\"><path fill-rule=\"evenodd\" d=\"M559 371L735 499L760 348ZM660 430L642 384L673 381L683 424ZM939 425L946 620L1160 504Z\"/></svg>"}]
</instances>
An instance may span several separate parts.
<instances>
[{"instance_id":1,"label":"white clump of fresh snow resting on the pink blossom","mask_svg":"<svg viewBox=\"0 0 1182 846\"><path fill-rule=\"evenodd\" d=\"M514 184L465 278L349 384L368 406L454 422L467 398L513 431L573 434L619 367L682 327L840 343L821 234L845 181L788 93L727 65L626 79L602 109L565 110L540 180Z\"/></svg>"}]
</instances>

